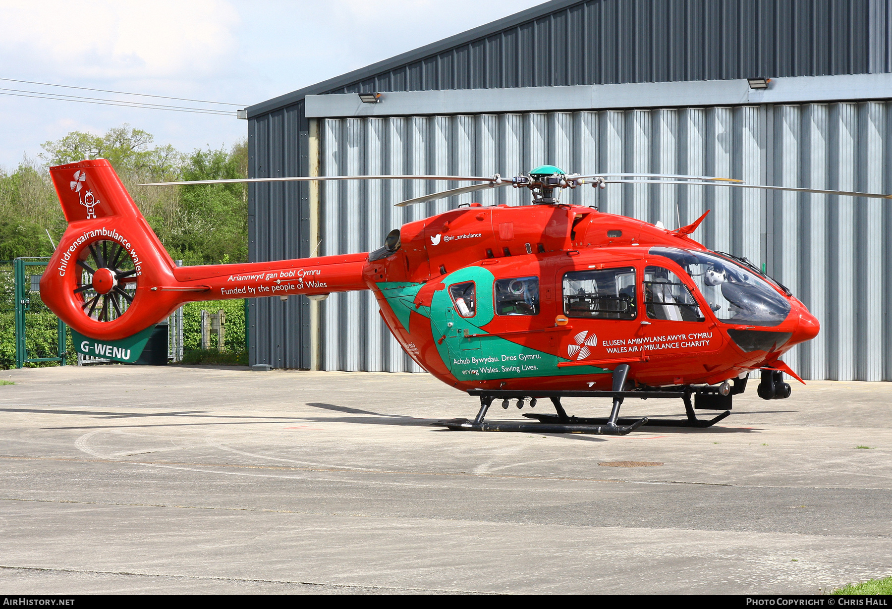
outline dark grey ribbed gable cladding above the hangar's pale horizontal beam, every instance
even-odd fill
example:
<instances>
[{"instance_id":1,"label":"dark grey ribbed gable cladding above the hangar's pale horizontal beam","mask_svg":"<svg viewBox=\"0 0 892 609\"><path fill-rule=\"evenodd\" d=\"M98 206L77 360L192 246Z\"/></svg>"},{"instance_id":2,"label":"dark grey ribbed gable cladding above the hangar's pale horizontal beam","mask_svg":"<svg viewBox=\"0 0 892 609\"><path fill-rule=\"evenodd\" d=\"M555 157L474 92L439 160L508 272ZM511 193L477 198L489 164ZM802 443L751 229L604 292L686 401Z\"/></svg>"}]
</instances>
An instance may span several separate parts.
<instances>
[{"instance_id":1,"label":"dark grey ribbed gable cladding above the hangar's pale horizontal beam","mask_svg":"<svg viewBox=\"0 0 892 609\"><path fill-rule=\"evenodd\" d=\"M889 0L589 0L318 93L892 70ZM542 7L548 11L548 6Z\"/></svg>"}]
</instances>

